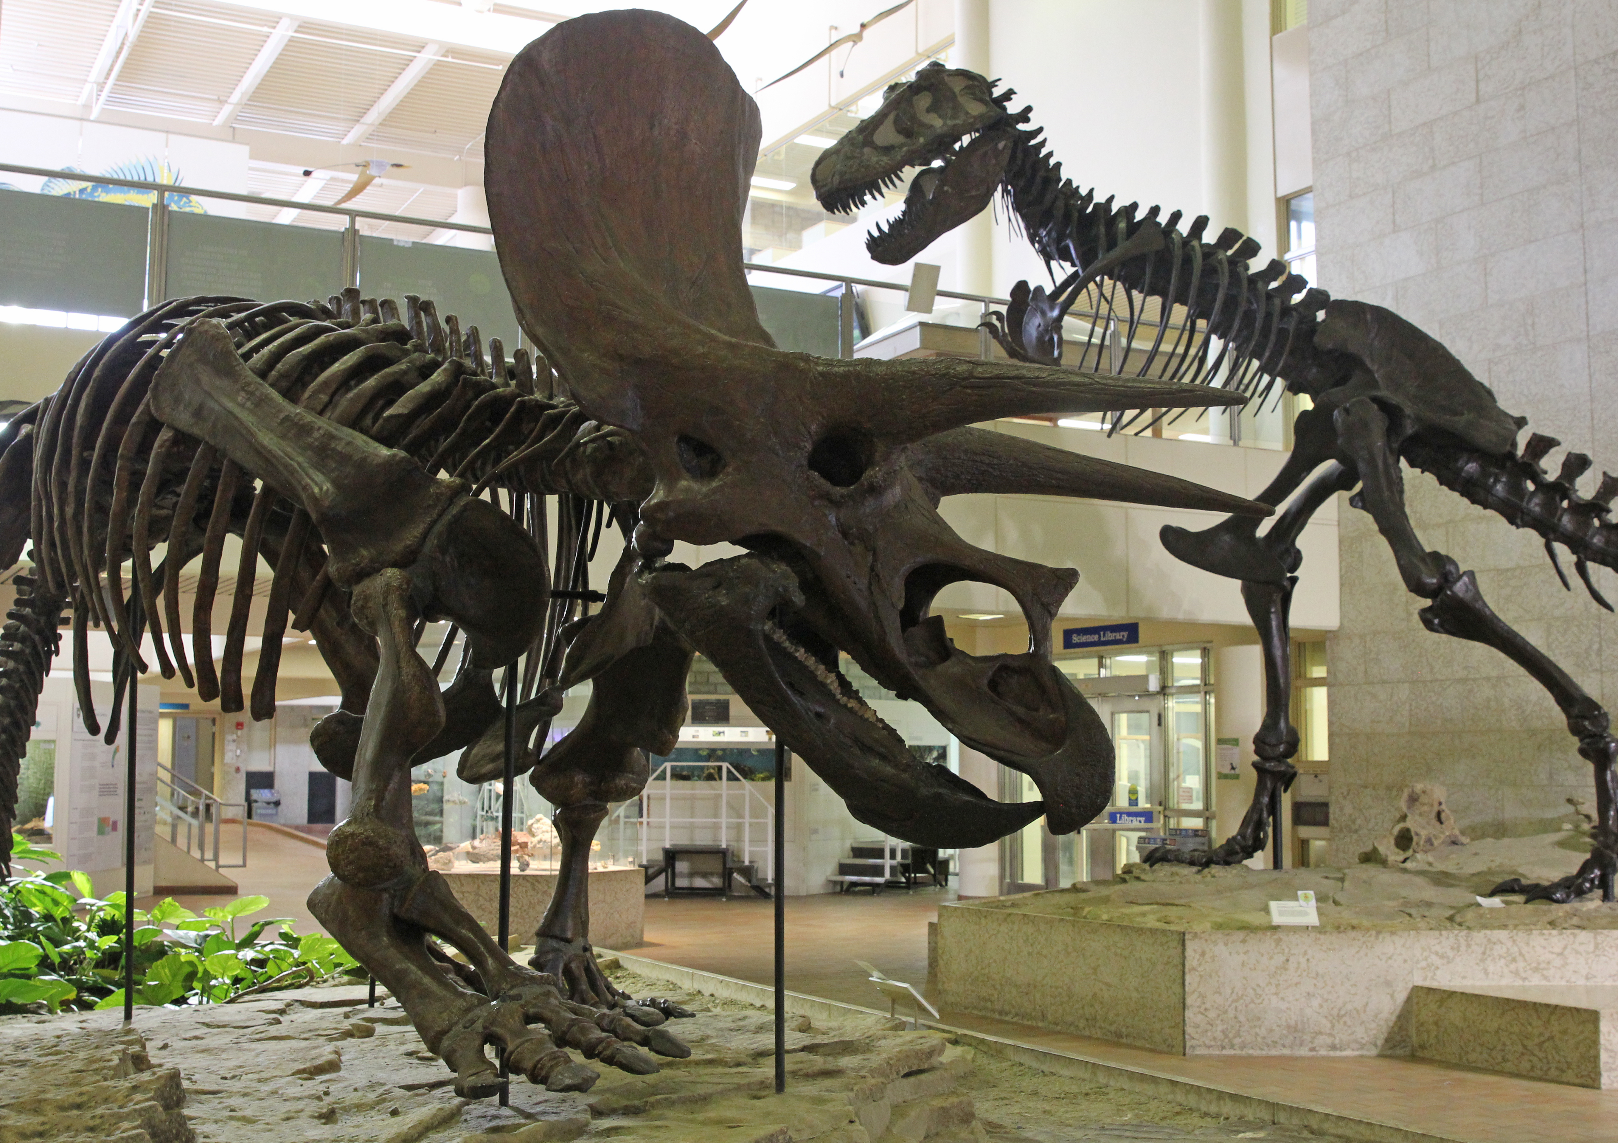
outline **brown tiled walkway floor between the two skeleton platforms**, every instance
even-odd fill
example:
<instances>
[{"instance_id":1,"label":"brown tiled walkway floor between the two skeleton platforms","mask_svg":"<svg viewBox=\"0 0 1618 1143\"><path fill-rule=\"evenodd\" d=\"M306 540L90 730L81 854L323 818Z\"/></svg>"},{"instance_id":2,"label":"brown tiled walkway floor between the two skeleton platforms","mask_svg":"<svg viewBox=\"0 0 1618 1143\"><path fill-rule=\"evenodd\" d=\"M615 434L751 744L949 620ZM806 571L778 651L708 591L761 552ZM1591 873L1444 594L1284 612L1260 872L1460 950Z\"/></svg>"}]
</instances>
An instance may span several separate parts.
<instances>
[{"instance_id":1,"label":"brown tiled walkway floor between the two skeleton platforms","mask_svg":"<svg viewBox=\"0 0 1618 1143\"><path fill-rule=\"evenodd\" d=\"M788 899L788 988L882 1007L854 958L921 984L927 975L927 921L937 918L940 902L951 899L942 890ZM772 903L765 900L649 899L646 937L634 955L760 984L773 979ZM964 1012L945 1012L942 1023L1094 1062L1121 1081L1152 1077L1269 1101L1277 1104L1278 1122L1311 1122L1325 1132L1353 1122L1359 1125L1358 1138L1618 1141L1618 1091L1408 1057L1168 1056Z\"/></svg>"}]
</instances>

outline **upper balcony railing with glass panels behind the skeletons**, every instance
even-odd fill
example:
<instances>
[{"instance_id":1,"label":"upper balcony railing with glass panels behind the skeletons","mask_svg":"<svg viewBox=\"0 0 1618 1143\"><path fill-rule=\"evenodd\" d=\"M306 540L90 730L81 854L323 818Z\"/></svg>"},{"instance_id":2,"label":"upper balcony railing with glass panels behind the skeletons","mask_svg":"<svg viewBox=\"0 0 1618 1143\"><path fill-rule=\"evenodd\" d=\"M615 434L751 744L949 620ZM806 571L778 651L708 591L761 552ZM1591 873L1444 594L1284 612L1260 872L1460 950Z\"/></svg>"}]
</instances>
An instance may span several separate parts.
<instances>
[{"instance_id":1,"label":"upper balcony railing with glass panels behind the skeletons","mask_svg":"<svg viewBox=\"0 0 1618 1143\"><path fill-rule=\"evenodd\" d=\"M0 164L0 172L55 183L84 185L74 172ZM189 295L248 298L327 298L346 287L366 296L432 298L440 314L456 314L461 327L477 325L489 338L516 348L523 332L487 249L404 241L374 233L382 227L426 227L440 235L492 236L487 227L438 219L383 214L354 207L207 191L172 183L94 176L147 193L149 206L102 202L11 189L0 194L0 321L107 330L116 319ZM170 206L170 199L183 209ZM298 212L337 215L341 228L209 214L210 202L246 202ZM201 206L201 210L197 209ZM819 356L956 356L1003 359L1003 350L981 329L1006 298L956 290L913 290L913 283L843 277L788 266L744 262L759 319L783 350ZM1094 372L1173 376L1191 351L1217 359L1217 343L1204 346L1199 329L1186 329L1171 312L1121 314L1099 293L1079 300L1063 329L1063 364ZM1194 346L1194 350L1192 350ZM1181 371L1181 377L1191 371ZM1204 377L1209 380L1209 377ZM1152 414L1129 432L1180 437L1204 444L1288 448L1291 398L1280 392L1249 403L1239 414ZM1102 429L1099 416L1071 418L1060 427Z\"/></svg>"}]
</instances>

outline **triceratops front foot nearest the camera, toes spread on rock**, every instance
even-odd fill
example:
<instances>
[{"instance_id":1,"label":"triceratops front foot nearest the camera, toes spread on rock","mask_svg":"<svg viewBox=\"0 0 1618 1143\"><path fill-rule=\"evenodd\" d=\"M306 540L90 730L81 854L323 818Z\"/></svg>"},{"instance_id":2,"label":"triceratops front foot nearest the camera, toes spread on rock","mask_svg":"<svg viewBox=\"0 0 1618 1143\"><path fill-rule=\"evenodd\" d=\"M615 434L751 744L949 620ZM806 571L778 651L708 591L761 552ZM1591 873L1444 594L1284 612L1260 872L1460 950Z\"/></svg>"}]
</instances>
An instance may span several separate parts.
<instances>
[{"instance_id":1,"label":"triceratops front foot nearest the camera, toes spread on rock","mask_svg":"<svg viewBox=\"0 0 1618 1143\"><path fill-rule=\"evenodd\" d=\"M497 1094L505 1085L484 1051L487 1044L495 1046L510 1073L524 1075L547 1091L587 1091L600 1078L594 1069L574 1062L566 1047L633 1075L659 1070L641 1047L670 1059L691 1056L678 1036L646 1026L629 1009L574 1004L563 999L553 978L537 973L497 999L472 1005L438 1041L437 1052L455 1072L455 1094L463 1099Z\"/></svg>"}]
</instances>

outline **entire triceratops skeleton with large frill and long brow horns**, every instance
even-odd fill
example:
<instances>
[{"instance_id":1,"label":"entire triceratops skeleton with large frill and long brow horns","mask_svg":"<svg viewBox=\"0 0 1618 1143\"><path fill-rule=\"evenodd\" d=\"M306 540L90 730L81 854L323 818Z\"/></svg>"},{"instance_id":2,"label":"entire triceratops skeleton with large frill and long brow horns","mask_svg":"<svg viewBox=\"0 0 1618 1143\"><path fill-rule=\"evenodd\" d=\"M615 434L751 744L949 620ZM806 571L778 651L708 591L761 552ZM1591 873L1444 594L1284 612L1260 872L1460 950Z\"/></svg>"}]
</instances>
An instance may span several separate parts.
<instances>
[{"instance_id":1,"label":"entire triceratops skeleton with large frill and long brow horns","mask_svg":"<svg viewBox=\"0 0 1618 1143\"><path fill-rule=\"evenodd\" d=\"M498 343L485 359L474 330L455 319L445 329L414 300L401 316L358 291L327 304L189 298L107 338L58 393L11 421L0 455L0 557L15 563L31 539L36 563L0 639L6 774L15 782L65 607L87 720L91 625L113 641L120 695L146 667L149 630L165 675L191 683L194 669L205 698L241 709L246 596L265 559L254 717L273 712L288 622L314 633L343 691L312 741L322 764L351 779L353 809L332 831L332 876L311 908L400 997L466 1096L502 1083L487 1044L553 1090L595 1078L561 1047L634 1072L657 1067L639 1046L686 1051L657 1010L600 975L586 876L607 805L636 797L647 751L676 741L694 651L867 824L940 847L987 843L1040 813L1073 831L1107 803L1113 766L1105 727L1050 661L1055 609L1076 573L966 544L938 516L940 497L1037 492L1267 513L966 427L1238 395L775 348L741 262L757 108L712 44L673 18L558 24L511 63L487 139L500 261L542 368L521 351L508 363ZM547 495L560 497L553 552ZM607 520L631 542L600 610L578 614L595 597L582 568ZM243 554L215 677L207 618L227 534ZM693 570L667 559L676 541L746 554ZM178 584L199 555L188 661ZM1027 652L953 646L929 607L959 580L1016 597ZM435 664L417 654L437 620L466 636L443 690L451 641ZM917 761L841 675L840 652L1031 774L1042 800L1002 805ZM518 767L557 806L563 847L527 965L427 868L409 793L413 764L455 750L466 779L500 771L493 672L516 672L523 656L521 683L506 675L521 698ZM540 724L584 680L587 709L545 751Z\"/></svg>"}]
</instances>

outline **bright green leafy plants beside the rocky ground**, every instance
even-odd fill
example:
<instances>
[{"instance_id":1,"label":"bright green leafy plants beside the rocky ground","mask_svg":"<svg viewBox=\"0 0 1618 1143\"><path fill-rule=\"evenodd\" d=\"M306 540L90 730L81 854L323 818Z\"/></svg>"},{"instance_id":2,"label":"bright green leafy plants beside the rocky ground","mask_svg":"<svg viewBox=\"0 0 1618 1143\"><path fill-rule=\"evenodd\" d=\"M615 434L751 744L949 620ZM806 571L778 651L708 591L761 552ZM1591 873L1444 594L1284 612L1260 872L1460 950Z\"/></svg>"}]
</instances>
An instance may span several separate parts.
<instances>
[{"instance_id":1,"label":"bright green leafy plants beside the rocky ground","mask_svg":"<svg viewBox=\"0 0 1618 1143\"><path fill-rule=\"evenodd\" d=\"M18 861L60 861L13 834ZM296 988L358 962L337 941L298 936L285 916L238 921L269 908L267 897L238 897L197 916L165 899L136 910L133 958L136 1004L222 1004L238 996ZM0 884L0 1012L44 1004L68 1009L123 1005L125 899L92 895L78 869L29 873Z\"/></svg>"}]
</instances>

